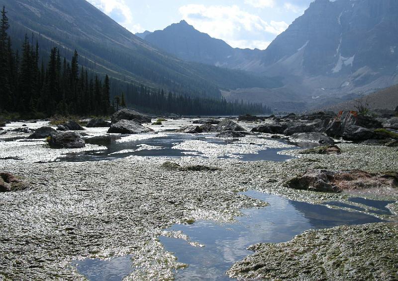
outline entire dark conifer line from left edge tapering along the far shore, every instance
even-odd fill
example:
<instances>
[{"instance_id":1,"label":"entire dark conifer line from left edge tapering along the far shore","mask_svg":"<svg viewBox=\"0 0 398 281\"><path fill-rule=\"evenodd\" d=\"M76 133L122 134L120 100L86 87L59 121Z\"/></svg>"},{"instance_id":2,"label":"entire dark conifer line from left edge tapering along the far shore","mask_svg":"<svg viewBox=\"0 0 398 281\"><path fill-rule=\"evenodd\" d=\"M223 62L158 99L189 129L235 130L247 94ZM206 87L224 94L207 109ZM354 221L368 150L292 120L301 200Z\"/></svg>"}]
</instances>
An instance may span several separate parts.
<instances>
[{"instance_id":1,"label":"entire dark conifer line from left edge tapering along the far shore","mask_svg":"<svg viewBox=\"0 0 398 281\"><path fill-rule=\"evenodd\" d=\"M120 107L133 107L157 114L236 115L268 113L262 104L227 102L225 99L192 97L125 82L108 75L100 77L79 66L79 54L67 60L59 47L39 49L35 37L25 34L20 50L14 50L5 7L0 22L0 112L26 117L59 115L107 116ZM19 40L19 37L17 38ZM20 41L20 40L19 40ZM50 49L51 48L51 49ZM40 61L39 53L47 54Z\"/></svg>"}]
</instances>

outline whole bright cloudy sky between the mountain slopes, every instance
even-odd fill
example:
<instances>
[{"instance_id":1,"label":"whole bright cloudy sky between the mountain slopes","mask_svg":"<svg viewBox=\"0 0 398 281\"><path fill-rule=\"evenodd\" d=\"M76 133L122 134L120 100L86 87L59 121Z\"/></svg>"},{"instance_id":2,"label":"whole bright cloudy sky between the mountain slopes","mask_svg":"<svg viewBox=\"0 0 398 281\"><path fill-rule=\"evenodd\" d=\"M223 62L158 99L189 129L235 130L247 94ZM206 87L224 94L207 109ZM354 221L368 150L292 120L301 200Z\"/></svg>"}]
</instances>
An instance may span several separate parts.
<instances>
[{"instance_id":1,"label":"whole bright cloudy sky between the mountain slopes","mask_svg":"<svg viewBox=\"0 0 398 281\"><path fill-rule=\"evenodd\" d=\"M132 33L186 20L234 48L264 50L312 0L88 0Z\"/></svg>"}]
</instances>

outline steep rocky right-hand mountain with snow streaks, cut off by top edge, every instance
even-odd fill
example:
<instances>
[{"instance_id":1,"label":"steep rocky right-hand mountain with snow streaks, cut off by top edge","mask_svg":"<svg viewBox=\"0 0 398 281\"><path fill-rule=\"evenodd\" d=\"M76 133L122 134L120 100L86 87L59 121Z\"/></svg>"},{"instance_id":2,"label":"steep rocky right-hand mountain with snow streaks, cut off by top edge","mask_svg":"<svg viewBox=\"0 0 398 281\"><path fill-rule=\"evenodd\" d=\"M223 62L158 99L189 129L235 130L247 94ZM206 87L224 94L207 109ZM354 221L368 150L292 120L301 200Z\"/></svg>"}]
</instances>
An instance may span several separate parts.
<instances>
[{"instance_id":1,"label":"steep rocky right-hand mountain with snow streaks, cut off by top edge","mask_svg":"<svg viewBox=\"0 0 398 281\"><path fill-rule=\"evenodd\" d=\"M396 0L315 0L262 63L265 73L299 77L315 97L369 92L398 82L397 34Z\"/></svg>"}]
</instances>

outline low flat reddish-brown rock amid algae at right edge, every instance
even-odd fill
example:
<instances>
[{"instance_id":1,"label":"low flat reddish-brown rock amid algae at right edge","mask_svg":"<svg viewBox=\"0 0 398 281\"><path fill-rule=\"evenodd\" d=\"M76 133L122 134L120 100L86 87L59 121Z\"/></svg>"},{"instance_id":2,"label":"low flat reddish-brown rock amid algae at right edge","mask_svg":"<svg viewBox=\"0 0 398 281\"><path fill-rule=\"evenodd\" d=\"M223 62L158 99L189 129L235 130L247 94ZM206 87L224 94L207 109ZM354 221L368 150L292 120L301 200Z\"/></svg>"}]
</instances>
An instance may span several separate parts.
<instances>
[{"instance_id":1,"label":"low flat reddish-brown rock amid algae at right edge","mask_svg":"<svg viewBox=\"0 0 398 281\"><path fill-rule=\"evenodd\" d=\"M365 189L373 187L396 187L397 174L375 175L364 171L331 171L309 169L303 175L286 182L286 186L299 190L319 192L342 192L343 190Z\"/></svg>"}]
</instances>

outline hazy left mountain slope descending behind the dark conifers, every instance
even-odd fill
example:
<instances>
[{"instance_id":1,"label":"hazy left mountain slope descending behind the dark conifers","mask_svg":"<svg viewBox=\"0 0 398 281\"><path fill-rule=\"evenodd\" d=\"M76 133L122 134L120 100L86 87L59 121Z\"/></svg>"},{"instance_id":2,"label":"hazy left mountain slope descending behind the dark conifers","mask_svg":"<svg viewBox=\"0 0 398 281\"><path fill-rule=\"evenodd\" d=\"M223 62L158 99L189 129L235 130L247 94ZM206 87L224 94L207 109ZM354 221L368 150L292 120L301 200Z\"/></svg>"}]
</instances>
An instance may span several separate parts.
<instances>
[{"instance_id":1,"label":"hazy left mountain slope descending behind the dark conifers","mask_svg":"<svg viewBox=\"0 0 398 281\"><path fill-rule=\"evenodd\" d=\"M178 59L133 35L85 0L0 0L0 5L8 11L12 38L23 39L26 32L30 38L33 33L45 48L41 52L57 46L62 56L72 57L69 54L77 49L82 65L122 81L212 98L221 98L220 89L281 84Z\"/></svg>"}]
</instances>

